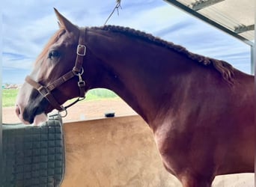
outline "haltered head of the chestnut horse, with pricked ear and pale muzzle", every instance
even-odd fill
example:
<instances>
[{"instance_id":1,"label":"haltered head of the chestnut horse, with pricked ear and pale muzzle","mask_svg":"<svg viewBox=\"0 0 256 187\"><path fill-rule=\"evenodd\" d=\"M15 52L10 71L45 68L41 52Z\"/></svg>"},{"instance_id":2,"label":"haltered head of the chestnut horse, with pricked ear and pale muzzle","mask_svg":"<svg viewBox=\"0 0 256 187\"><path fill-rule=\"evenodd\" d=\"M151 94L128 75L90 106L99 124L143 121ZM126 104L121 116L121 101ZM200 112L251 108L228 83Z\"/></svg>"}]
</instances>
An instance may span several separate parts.
<instances>
[{"instance_id":1,"label":"haltered head of the chestnut horse, with pricked ear and pale muzzle","mask_svg":"<svg viewBox=\"0 0 256 187\"><path fill-rule=\"evenodd\" d=\"M40 123L53 109L64 110L68 99L83 97L88 90L82 80L85 28L79 28L55 9L59 30L34 63L16 99L22 123Z\"/></svg>"}]
</instances>

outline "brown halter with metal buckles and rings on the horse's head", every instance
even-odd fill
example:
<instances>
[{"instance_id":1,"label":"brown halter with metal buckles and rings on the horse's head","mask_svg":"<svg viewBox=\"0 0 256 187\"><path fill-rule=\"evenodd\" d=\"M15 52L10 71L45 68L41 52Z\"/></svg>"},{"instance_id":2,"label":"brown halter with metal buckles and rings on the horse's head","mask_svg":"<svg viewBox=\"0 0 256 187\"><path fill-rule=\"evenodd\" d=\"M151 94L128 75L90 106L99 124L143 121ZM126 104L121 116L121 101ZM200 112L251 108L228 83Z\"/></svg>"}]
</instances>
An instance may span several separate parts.
<instances>
[{"instance_id":1,"label":"brown halter with metal buckles and rings on the horse's head","mask_svg":"<svg viewBox=\"0 0 256 187\"><path fill-rule=\"evenodd\" d=\"M30 84L34 89L36 89L44 98L46 98L48 102L53 106L53 108L57 109L58 112L66 112L63 117L67 115L67 108L76 104L76 102L85 99L85 81L82 80L82 74L84 73L82 63L84 60L84 56L86 55L85 31L85 28L79 29L79 44L76 49L76 64L73 67L73 70L64 74L64 76L61 76L60 78L56 79L55 81L46 86L40 85L40 83L35 82L33 79L31 79L30 76L26 76L25 78L25 81L28 82L28 84ZM79 87L79 97L70 105L60 105L55 97L52 95L51 91L62 85L64 82L72 79L74 76L79 77L79 81L77 82Z\"/></svg>"}]
</instances>

